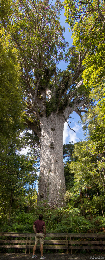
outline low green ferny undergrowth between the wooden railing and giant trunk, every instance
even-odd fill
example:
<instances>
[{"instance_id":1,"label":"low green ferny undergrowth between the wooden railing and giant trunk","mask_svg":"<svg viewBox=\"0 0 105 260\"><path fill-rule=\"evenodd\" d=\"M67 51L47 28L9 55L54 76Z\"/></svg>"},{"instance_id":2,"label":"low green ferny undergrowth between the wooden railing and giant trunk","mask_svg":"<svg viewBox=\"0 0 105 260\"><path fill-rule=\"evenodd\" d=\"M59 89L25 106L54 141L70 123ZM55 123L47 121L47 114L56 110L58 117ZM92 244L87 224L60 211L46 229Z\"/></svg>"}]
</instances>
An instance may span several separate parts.
<instances>
[{"instance_id":1,"label":"low green ferny undergrowth between the wooden railing and giant trunk","mask_svg":"<svg viewBox=\"0 0 105 260\"><path fill-rule=\"evenodd\" d=\"M97 233L105 232L105 218L102 216L81 216L78 208L67 207L51 208L44 200L36 206L34 213L26 213L17 210L12 218L10 226L1 225L3 232L34 232L33 222L43 215L47 233Z\"/></svg>"}]
</instances>

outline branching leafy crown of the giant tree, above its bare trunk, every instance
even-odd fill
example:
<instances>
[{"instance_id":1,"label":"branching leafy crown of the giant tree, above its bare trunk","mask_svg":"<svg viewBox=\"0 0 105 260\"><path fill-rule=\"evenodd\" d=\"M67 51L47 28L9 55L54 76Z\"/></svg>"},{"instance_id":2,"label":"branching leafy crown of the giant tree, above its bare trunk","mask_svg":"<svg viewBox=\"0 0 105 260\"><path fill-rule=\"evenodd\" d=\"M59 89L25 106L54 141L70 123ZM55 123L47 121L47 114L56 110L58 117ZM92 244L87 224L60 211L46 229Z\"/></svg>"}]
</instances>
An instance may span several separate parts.
<instances>
[{"instance_id":1,"label":"branching leafy crown of the giant tree, above its bare trunk","mask_svg":"<svg viewBox=\"0 0 105 260\"><path fill-rule=\"evenodd\" d=\"M67 70L57 75L57 63L64 59L65 48L68 49L59 22L63 5L59 1L54 5L48 1L17 1L16 4L17 10L12 17L11 26L10 23L8 26L14 48L19 55L20 77L26 82L23 89L27 104L27 123L31 129L38 127L40 131L39 121L42 115L48 116L52 111L64 110L69 104L75 109L76 100L71 100L76 96L80 107L86 101L85 96L82 98L83 92L86 93L85 89L80 90L78 86L77 90L75 83L86 51L77 57L77 71L74 68L72 72ZM35 132L38 134L37 129Z\"/></svg>"}]
</instances>

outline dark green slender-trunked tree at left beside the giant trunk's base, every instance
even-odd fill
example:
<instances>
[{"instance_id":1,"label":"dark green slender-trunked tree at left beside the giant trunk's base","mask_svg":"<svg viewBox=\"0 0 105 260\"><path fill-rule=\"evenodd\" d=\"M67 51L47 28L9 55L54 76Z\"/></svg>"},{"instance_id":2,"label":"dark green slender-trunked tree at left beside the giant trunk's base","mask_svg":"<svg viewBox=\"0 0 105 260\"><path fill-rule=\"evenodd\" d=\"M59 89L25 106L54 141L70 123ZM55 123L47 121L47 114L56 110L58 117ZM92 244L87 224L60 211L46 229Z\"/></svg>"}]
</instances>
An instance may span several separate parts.
<instances>
[{"instance_id":1,"label":"dark green slender-trunked tree at left beside the giant trunk's base","mask_svg":"<svg viewBox=\"0 0 105 260\"><path fill-rule=\"evenodd\" d=\"M3 153L0 157L0 206L2 222L4 217L8 219L10 224L11 209L20 206L24 210L23 198L31 192L30 184L32 183L32 192L30 197L29 209L35 181L37 179L37 170L35 161L28 156L14 152L14 149L8 153ZM5 200L4 200L5 198ZM13 213L13 212L12 212Z\"/></svg>"}]
</instances>

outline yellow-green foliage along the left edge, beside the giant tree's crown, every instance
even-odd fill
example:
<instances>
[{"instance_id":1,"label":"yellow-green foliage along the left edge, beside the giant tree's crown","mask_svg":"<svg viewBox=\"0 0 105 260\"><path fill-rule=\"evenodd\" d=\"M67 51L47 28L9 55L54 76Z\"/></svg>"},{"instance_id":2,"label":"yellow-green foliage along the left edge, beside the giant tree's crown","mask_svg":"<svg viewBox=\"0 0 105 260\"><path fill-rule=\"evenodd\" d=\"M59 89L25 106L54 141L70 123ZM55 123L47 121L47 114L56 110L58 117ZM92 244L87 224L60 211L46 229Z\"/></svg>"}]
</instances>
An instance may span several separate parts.
<instances>
[{"instance_id":1,"label":"yellow-green foliage along the left edge, beside the giant tree's crown","mask_svg":"<svg viewBox=\"0 0 105 260\"><path fill-rule=\"evenodd\" d=\"M10 48L11 38L0 29L0 144L1 150L8 149L12 142L18 143L23 129L23 101L19 87L19 64L17 51Z\"/></svg>"}]
</instances>

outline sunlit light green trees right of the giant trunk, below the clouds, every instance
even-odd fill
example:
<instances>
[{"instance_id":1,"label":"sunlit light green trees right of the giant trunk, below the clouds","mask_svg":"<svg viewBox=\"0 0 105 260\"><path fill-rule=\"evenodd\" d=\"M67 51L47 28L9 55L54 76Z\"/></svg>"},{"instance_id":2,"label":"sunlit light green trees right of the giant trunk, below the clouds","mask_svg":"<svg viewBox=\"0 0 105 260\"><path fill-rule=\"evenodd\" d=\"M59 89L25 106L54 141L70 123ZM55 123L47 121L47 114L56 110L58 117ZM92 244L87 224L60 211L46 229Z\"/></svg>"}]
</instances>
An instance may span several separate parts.
<instances>
[{"instance_id":1,"label":"sunlit light green trees right of the giant trunk, below the clouds","mask_svg":"<svg viewBox=\"0 0 105 260\"><path fill-rule=\"evenodd\" d=\"M98 92L96 96L96 90L94 90L91 96L99 100L102 94L103 91ZM74 159L69 164L70 173L74 173L74 185L66 192L65 198L68 201L74 200L74 206L81 204L83 216L87 212L92 214L96 209L95 212L97 211L104 218L105 122L102 103L104 103L103 99L82 117L81 123L86 133L88 131L88 140L75 144L72 156Z\"/></svg>"}]
</instances>

